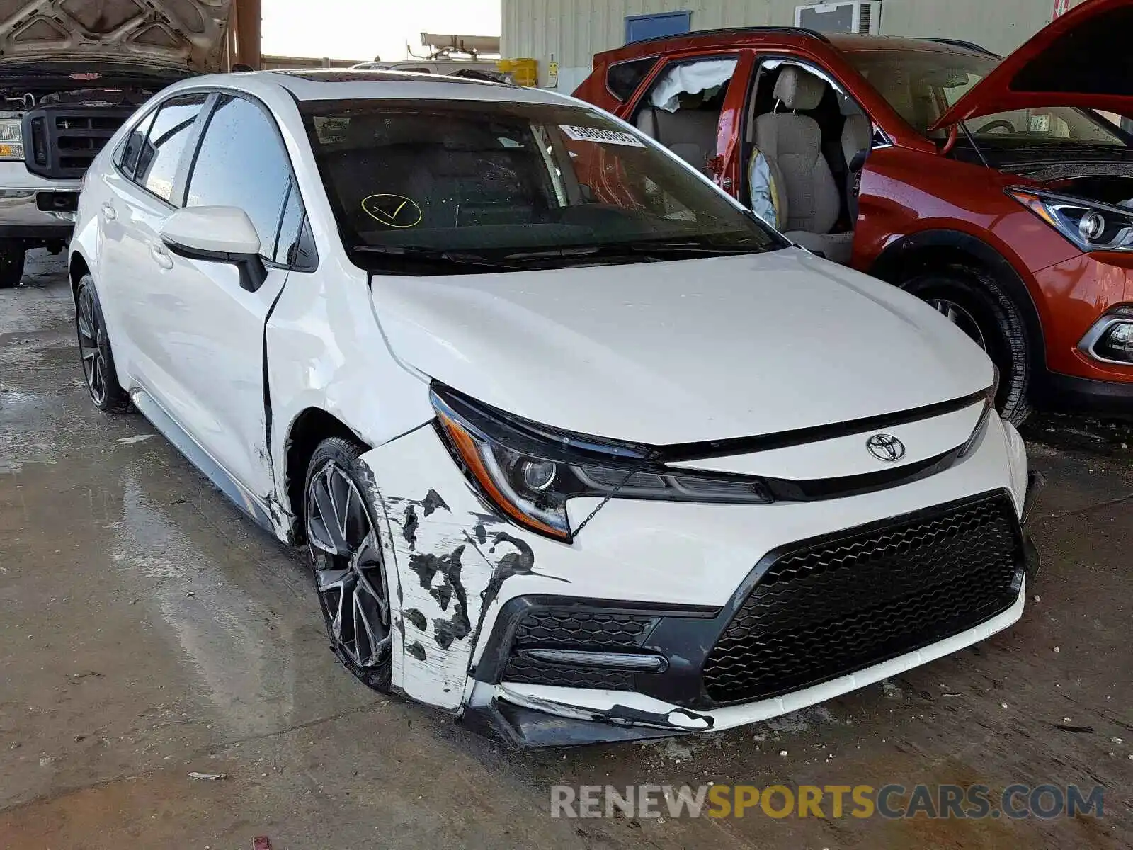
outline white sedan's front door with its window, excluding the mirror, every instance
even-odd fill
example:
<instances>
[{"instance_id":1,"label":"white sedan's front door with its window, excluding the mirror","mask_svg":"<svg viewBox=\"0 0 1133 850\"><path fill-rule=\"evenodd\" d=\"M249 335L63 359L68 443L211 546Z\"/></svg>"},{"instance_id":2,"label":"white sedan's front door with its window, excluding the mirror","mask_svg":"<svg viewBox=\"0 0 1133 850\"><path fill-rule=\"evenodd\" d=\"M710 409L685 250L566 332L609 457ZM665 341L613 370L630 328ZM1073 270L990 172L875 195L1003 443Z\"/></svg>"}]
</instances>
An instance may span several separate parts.
<instances>
[{"instance_id":1,"label":"white sedan's front door with its window, excluding the mirror","mask_svg":"<svg viewBox=\"0 0 1133 850\"><path fill-rule=\"evenodd\" d=\"M174 415L229 475L266 500L274 483L264 326L288 279L304 205L275 120L259 102L218 96L188 172L185 206L244 210L259 236L267 277L247 291L232 265L171 255L176 296L153 292L146 309L177 388Z\"/></svg>"}]
</instances>

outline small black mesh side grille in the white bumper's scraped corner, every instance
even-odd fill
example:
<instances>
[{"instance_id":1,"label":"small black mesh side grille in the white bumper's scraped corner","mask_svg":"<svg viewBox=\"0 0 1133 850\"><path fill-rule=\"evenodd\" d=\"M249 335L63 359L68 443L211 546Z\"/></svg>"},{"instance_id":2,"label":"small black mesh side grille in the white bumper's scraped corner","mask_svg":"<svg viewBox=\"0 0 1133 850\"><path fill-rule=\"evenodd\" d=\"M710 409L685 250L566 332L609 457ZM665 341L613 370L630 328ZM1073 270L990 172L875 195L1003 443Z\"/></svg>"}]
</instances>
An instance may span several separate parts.
<instances>
[{"instance_id":1,"label":"small black mesh side grille in the white bumper's scraped corner","mask_svg":"<svg viewBox=\"0 0 1133 850\"><path fill-rule=\"evenodd\" d=\"M585 607L543 607L528 611L512 637L503 681L559 685L568 688L633 690L633 673L582 668L533 658L528 649L633 652L645 641L657 618L647 614L593 611Z\"/></svg>"}]
</instances>

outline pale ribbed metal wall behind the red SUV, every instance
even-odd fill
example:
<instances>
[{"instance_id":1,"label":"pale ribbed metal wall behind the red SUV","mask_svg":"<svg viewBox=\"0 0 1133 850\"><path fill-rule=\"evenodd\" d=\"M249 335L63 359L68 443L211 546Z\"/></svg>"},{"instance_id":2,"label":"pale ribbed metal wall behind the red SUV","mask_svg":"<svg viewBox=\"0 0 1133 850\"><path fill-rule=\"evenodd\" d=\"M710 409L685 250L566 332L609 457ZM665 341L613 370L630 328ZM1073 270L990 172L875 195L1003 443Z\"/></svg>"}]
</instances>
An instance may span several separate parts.
<instances>
[{"instance_id":1,"label":"pale ribbed metal wall behind the red SUV","mask_svg":"<svg viewBox=\"0 0 1133 850\"><path fill-rule=\"evenodd\" d=\"M502 0L501 44L505 57L559 62L559 90L570 93L586 78L590 60L620 46L625 17L691 11L693 29L794 24L795 6L818 0ZM1081 0L1072 0L1076 6ZM1058 0L883 0L881 33L974 41L1010 53L1051 19Z\"/></svg>"}]
</instances>

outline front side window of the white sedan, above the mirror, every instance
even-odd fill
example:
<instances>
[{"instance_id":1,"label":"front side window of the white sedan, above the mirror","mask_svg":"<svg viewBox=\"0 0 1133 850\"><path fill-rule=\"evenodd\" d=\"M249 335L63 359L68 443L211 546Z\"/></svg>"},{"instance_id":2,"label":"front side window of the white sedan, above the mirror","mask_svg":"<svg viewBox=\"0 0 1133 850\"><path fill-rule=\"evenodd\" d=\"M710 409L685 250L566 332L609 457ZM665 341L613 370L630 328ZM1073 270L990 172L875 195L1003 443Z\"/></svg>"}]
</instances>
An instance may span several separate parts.
<instances>
[{"instance_id":1,"label":"front side window of the white sedan, above the mirror","mask_svg":"<svg viewBox=\"0 0 1133 850\"><path fill-rule=\"evenodd\" d=\"M240 207L259 233L259 253L271 260L290 181L274 121L255 103L224 96L205 127L185 205Z\"/></svg>"}]
</instances>

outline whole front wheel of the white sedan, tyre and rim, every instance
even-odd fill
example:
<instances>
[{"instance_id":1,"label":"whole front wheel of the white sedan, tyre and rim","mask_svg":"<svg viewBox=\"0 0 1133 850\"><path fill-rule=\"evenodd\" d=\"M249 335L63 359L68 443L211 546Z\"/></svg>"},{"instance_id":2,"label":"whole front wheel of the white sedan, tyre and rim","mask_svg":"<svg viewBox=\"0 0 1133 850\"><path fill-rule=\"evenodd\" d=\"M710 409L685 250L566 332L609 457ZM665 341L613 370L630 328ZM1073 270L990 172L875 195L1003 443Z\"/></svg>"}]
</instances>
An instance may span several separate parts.
<instances>
[{"instance_id":1,"label":"whole front wheel of the white sedan, tyre and rim","mask_svg":"<svg viewBox=\"0 0 1133 850\"><path fill-rule=\"evenodd\" d=\"M331 649L367 687L390 692L390 583L358 458L365 449L324 440L307 466L307 553Z\"/></svg>"}]
</instances>

